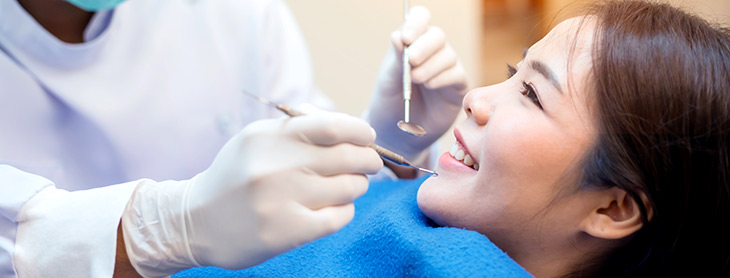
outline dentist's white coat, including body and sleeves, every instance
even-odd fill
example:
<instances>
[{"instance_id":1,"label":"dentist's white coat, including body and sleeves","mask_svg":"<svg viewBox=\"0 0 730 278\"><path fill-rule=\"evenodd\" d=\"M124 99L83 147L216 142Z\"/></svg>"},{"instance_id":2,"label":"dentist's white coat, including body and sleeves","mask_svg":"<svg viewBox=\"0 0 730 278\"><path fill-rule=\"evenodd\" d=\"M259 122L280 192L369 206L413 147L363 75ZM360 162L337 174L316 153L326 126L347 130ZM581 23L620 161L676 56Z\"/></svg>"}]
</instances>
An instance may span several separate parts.
<instances>
[{"instance_id":1,"label":"dentist's white coat, including body and sleeves","mask_svg":"<svg viewBox=\"0 0 730 278\"><path fill-rule=\"evenodd\" d=\"M136 180L190 178L281 115L242 90L331 108L279 0L128 0L85 37L0 1L0 277L111 276Z\"/></svg>"}]
</instances>

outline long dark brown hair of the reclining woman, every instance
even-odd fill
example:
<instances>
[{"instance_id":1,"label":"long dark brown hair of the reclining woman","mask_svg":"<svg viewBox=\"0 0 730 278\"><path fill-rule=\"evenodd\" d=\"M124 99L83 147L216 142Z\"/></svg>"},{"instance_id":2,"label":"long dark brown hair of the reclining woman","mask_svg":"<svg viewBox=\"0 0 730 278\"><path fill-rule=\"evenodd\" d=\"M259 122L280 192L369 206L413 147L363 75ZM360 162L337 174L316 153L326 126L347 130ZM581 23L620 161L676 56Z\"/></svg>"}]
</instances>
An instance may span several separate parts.
<instances>
[{"instance_id":1,"label":"long dark brown hair of the reclining woman","mask_svg":"<svg viewBox=\"0 0 730 278\"><path fill-rule=\"evenodd\" d=\"M624 189L644 225L576 273L730 277L730 32L646 1L586 14L598 24L590 97L599 137L584 184Z\"/></svg>"}]
</instances>

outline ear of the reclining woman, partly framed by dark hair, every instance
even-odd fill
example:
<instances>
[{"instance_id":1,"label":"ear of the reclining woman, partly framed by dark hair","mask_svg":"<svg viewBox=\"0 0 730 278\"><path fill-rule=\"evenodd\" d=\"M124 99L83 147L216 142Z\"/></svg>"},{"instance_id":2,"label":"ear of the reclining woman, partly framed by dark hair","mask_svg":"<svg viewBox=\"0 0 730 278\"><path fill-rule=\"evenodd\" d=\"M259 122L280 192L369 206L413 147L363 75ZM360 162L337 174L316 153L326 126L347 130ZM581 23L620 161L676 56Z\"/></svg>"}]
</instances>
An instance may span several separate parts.
<instances>
[{"instance_id":1,"label":"ear of the reclining woman, partly framed by dark hair","mask_svg":"<svg viewBox=\"0 0 730 278\"><path fill-rule=\"evenodd\" d=\"M596 238L621 239L641 229L641 210L631 195L612 187L601 192L594 209L581 222L581 230ZM652 209L648 198L639 193L649 219Z\"/></svg>"}]
</instances>

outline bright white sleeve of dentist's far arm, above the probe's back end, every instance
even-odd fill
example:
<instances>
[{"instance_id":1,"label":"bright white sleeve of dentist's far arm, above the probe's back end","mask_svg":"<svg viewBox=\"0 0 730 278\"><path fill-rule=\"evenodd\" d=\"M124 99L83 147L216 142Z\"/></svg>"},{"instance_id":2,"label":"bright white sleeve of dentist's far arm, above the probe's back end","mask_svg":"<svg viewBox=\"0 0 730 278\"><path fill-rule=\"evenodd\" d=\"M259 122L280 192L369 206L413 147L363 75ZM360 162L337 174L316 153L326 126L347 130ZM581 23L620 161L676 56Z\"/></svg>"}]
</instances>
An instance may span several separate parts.
<instances>
[{"instance_id":1,"label":"bright white sleeve of dentist's far arm, above the probe's back end","mask_svg":"<svg viewBox=\"0 0 730 278\"><path fill-rule=\"evenodd\" d=\"M309 49L291 10L283 1L273 0L269 1L264 14L262 92L290 105L310 103L321 109L334 110L332 100L314 84Z\"/></svg>"}]
</instances>

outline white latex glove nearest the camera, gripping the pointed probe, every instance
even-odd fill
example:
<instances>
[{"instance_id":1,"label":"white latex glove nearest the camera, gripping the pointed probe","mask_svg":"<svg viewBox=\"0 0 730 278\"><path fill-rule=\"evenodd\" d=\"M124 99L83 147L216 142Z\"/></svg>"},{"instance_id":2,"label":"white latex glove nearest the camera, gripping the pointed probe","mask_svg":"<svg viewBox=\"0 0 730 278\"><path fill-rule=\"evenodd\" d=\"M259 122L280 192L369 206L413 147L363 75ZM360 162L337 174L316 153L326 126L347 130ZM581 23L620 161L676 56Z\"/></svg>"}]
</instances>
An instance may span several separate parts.
<instances>
[{"instance_id":1,"label":"white latex glove nearest the camera, gripping the pointed probe","mask_svg":"<svg viewBox=\"0 0 730 278\"><path fill-rule=\"evenodd\" d=\"M333 233L382 167L364 121L317 113L252 123L187 181L138 186L122 218L135 269L241 269Z\"/></svg>"}]
</instances>

